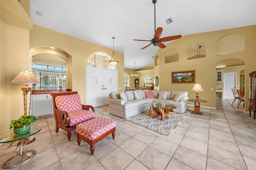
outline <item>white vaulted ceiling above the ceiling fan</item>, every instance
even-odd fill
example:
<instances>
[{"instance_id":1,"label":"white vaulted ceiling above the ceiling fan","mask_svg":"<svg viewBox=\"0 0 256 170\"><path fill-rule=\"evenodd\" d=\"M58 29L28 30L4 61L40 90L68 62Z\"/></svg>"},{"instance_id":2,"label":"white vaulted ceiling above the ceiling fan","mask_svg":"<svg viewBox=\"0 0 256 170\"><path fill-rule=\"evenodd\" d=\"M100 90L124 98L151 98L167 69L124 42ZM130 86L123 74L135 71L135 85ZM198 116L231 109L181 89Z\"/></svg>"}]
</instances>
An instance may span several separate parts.
<instances>
[{"instance_id":1,"label":"white vaulted ceiling above the ceiling fan","mask_svg":"<svg viewBox=\"0 0 256 170\"><path fill-rule=\"evenodd\" d=\"M36 14L42 12L42 16ZM124 53L124 67L154 63L152 0L30 0L34 24ZM172 22L166 24L171 18ZM162 37L188 35L256 24L255 0L157 0L156 28ZM170 42L164 42L168 44Z\"/></svg>"}]
</instances>

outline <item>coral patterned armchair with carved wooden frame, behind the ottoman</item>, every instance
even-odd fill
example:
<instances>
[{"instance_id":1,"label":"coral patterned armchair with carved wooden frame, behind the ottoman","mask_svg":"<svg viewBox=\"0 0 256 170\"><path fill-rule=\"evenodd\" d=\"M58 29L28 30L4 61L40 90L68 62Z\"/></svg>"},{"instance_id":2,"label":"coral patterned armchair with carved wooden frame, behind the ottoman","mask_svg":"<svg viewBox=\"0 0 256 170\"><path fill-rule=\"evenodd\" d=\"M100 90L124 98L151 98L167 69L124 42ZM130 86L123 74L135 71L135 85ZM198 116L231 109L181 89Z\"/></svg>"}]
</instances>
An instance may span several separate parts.
<instances>
[{"instance_id":1,"label":"coral patterned armchair with carved wooden frame, behind the ottoman","mask_svg":"<svg viewBox=\"0 0 256 170\"><path fill-rule=\"evenodd\" d=\"M51 93L54 118L56 123L55 132L59 127L68 132L68 140L71 139L72 130L76 125L93 119L95 110L93 106L82 105L77 91Z\"/></svg>"}]
</instances>

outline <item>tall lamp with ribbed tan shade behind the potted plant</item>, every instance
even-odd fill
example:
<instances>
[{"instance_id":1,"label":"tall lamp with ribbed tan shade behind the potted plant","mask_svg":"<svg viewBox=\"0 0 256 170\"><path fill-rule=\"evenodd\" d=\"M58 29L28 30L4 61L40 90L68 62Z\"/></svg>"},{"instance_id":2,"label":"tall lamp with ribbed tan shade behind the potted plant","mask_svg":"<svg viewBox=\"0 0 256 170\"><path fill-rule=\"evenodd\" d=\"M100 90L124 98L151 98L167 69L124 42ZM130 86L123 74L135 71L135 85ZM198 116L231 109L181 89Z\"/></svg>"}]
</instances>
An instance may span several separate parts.
<instances>
[{"instance_id":1,"label":"tall lamp with ribbed tan shade behind the potted plant","mask_svg":"<svg viewBox=\"0 0 256 170\"><path fill-rule=\"evenodd\" d=\"M40 83L38 79L36 79L35 75L28 71L21 71L12 81L11 83L25 83L25 86L21 88L23 91L23 102L24 102L24 115L30 115L30 105L31 105L31 87L28 86L28 83ZM28 101L28 92L30 92L29 98L29 109L27 109L27 101Z\"/></svg>"}]
</instances>

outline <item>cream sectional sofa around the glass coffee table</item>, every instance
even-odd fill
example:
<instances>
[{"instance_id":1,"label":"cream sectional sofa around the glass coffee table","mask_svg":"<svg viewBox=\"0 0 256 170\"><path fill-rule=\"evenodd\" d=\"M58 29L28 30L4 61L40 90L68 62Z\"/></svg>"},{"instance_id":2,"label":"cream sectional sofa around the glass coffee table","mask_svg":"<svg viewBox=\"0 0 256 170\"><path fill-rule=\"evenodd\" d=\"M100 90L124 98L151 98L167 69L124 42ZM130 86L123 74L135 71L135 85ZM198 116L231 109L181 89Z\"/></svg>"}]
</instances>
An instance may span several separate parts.
<instances>
[{"instance_id":1,"label":"cream sectional sofa around the glass coffee table","mask_svg":"<svg viewBox=\"0 0 256 170\"><path fill-rule=\"evenodd\" d=\"M133 91L140 92L142 99L135 99ZM127 119L149 110L149 104L152 102L172 104L176 106L176 109L174 109L175 113L183 114L187 110L188 91L150 90L154 94L154 98L146 98L145 91L149 90L129 90L110 93L108 99L109 113ZM163 94L162 92L165 92L165 94L167 93L166 99L158 98L159 94ZM120 93L122 94L121 97L124 97L125 99L120 99Z\"/></svg>"}]
</instances>

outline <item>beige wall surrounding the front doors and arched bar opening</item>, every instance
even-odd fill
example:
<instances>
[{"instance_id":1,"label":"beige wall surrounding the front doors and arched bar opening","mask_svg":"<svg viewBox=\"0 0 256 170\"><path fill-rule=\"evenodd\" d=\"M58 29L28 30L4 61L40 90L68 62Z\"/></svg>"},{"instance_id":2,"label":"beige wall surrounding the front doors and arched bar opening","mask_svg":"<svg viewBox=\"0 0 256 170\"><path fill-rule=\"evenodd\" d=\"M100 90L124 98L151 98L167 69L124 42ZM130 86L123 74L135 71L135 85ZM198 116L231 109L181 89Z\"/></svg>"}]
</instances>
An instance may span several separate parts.
<instances>
[{"instance_id":1,"label":"beige wall surrounding the front doors and arched bar opening","mask_svg":"<svg viewBox=\"0 0 256 170\"><path fill-rule=\"evenodd\" d=\"M66 34L55 32L41 26L34 25L30 30L30 48L40 46L54 46L66 51L72 57L72 91L78 91L82 103L86 103L86 65L88 57L96 52L102 51L109 55L112 49L96 45ZM124 87L124 54L115 51L118 56L118 88L119 91ZM70 80L69 80L70 82Z\"/></svg>"}]
</instances>

